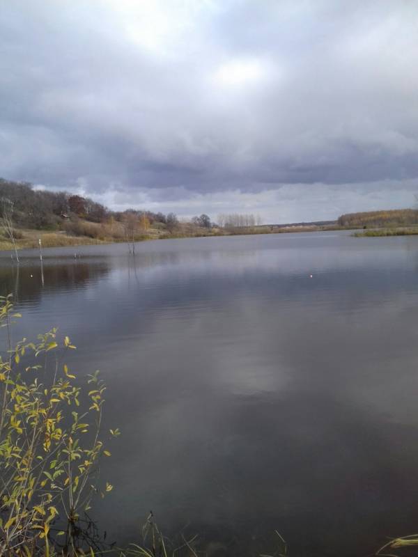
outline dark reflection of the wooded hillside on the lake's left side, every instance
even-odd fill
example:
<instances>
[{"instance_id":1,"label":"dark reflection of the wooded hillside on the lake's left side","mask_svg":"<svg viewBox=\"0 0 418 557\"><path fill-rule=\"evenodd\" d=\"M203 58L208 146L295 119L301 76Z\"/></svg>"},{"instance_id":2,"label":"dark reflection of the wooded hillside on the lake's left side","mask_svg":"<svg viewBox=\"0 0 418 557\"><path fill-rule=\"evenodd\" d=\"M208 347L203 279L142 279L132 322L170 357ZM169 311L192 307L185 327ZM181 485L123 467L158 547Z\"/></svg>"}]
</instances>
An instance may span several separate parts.
<instances>
[{"instance_id":1,"label":"dark reflection of the wooded hillside on the lake's left side","mask_svg":"<svg viewBox=\"0 0 418 557\"><path fill-rule=\"evenodd\" d=\"M15 301L38 299L42 288L51 291L82 286L107 275L110 269L105 260L94 264L81 261L65 261L62 264L44 262L42 268L39 263L0 267L0 295L13 293Z\"/></svg>"}]
</instances>

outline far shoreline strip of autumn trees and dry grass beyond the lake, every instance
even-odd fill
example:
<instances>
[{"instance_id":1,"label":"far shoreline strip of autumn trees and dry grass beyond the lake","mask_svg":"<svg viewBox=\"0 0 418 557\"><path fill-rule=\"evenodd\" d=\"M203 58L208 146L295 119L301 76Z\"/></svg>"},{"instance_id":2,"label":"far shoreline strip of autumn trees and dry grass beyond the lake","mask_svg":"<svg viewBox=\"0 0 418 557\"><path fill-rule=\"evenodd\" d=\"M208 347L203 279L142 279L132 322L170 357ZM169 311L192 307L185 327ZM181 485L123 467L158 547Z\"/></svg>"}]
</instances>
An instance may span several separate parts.
<instances>
[{"instance_id":1,"label":"far shoreline strip of autumn trees and dry grass beyond the lake","mask_svg":"<svg viewBox=\"0 0 418 557\"><path fill-rule=\"evenodd\" d=\"M207 214L179 219L173 212L109 210L90 198L65 191L33 189L27 182L0 178L0 251L125 242L130 253L143 240L205 236L281 234L355 230L355 236L403 236L417 233L418 210L343 214L336 221L263 224L258 214Z\"/></svg>"}]
</instances>

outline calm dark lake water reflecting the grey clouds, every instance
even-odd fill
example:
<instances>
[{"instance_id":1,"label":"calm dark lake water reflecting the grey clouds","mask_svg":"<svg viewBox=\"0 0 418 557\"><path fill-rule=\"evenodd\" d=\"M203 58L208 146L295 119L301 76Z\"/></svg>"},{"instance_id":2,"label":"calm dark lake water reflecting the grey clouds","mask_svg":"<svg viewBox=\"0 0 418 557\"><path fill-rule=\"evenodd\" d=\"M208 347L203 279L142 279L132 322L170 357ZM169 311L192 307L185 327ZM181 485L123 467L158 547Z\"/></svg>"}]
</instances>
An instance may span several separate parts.
<instances>
[{"instance_id":1,"label":"calm dark lake water reflecting the grey clouds","mask_svg":"<svg viewBox=\"0 0 418 557\"><path fill-rule=\"evenodd\" d=\"M100 369L108 538L368 555L418 531L418 237L218 237L0 256L1 294ZM313 275L310 278L310 274ZM33 276L31 276L33 275ZM223 553L221 549L223 549ZM225 549L226 548L226 549Z\"/></svg>"}]
</instances>

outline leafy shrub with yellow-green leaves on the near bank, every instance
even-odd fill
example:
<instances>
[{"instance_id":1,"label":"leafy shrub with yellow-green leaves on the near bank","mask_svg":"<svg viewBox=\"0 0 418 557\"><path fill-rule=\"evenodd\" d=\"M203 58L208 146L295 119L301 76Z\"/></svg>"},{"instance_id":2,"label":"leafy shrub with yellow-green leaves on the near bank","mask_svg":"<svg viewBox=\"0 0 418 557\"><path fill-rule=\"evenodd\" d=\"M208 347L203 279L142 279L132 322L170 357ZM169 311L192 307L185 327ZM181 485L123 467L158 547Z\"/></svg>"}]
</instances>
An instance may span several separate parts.
<instances>
[{"instance_id":1,"label":"leafy shrub with yellow-green leaves on the near bank","mask_svg":"<svg viewBox=\"0 0 418 557\"><path fill-rule=\"evenodd\" d=\"M1 297L0 327L17 317L10 296ZM34 343L24 338L12 346L10 334L6 338L0 355L0 555L93 551L81 519L95 494L112 489L98 483L99 459L110 455L100 440L106 387L95 372L84 393L62 361L75 346L56 329Z\"/></svg>"}]
</instances>

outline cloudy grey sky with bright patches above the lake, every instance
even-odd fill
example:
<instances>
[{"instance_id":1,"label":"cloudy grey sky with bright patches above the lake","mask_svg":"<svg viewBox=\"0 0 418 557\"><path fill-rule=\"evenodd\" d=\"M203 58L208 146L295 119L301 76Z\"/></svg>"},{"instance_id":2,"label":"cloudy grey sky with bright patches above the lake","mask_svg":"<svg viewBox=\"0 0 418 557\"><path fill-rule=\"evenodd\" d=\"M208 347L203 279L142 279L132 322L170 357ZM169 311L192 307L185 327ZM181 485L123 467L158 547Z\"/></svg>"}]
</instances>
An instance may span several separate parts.
<instances>
[{"instance_id":1,"label":"cloudy grey sky with bright patches above the lake","mask_svg":"<svg viewBox=\"0 0 418 557\"><path fill-rule=\"evenodd\" d=\"M415 0L3 0L0 176L264 223L412 207Z\"/></svg>"}]
</instances>

